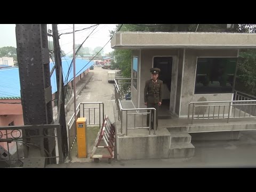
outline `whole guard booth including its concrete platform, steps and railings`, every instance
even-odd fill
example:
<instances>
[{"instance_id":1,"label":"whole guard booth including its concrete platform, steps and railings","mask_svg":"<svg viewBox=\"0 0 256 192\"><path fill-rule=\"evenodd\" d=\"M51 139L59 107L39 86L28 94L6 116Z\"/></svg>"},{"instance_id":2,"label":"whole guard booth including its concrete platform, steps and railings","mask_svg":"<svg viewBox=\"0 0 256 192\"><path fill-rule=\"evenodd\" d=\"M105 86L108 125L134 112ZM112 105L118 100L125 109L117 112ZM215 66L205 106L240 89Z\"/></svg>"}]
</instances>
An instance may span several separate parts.
<instances>
[{"instance_id":1,"label":"whole guard booth including its concrete platform, steps and railings","mask_svg":"<svg viewBox=\"0 0 256 192\"><path fill-rule=\"evenodd\" d=\"M256 130L256 98L234 90L239 51L256 48L255 34L117 32L111 48L132 50L130 101L120 96L122 79L115 83L118 159L192 157L191 140ZM153 67L163 81L154 135L143 99Z\"/></svg>"}]
</instances>

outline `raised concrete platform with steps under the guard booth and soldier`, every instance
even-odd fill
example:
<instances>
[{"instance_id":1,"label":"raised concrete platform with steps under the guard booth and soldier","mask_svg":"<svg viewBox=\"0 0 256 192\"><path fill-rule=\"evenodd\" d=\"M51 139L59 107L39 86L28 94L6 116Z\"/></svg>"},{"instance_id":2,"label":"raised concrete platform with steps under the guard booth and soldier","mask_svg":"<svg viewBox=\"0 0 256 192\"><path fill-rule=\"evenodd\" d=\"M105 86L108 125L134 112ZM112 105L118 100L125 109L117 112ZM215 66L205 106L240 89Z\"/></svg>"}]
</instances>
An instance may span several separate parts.
<instances>
[{"instance_id":1,"label":"raised concrete platform with steps under the guard booth and soldier","mask_svg":"<svg viewBox=\"0 0 256 192\"><path fill-rule=\"evenodd\" d=\"M134 108L130 100L123 100L121 103L123 108ZM233 118L229 119L229 123L227 123L227 119L197 119L194 124L188 124L187 118L178 118L170 113L160 111L156 134L153 134L153 130L149 133L147 129L128 129L127 135L125 135L126 112L123 112L121 133L121 123L118 121L115 101L113 101L113 108L118 160L193 157L195 147L191 144L191 140L237 140L239 131L256 130L254 118ZM142 113L146 110L138 112ZM127 113L136 113L136 111L131 110ZM166 114L170 118L166 118ZM136 117L130 115L127 127L146 127L146 118L146 115L136 115Z\"/></svg>"}]
</instances>

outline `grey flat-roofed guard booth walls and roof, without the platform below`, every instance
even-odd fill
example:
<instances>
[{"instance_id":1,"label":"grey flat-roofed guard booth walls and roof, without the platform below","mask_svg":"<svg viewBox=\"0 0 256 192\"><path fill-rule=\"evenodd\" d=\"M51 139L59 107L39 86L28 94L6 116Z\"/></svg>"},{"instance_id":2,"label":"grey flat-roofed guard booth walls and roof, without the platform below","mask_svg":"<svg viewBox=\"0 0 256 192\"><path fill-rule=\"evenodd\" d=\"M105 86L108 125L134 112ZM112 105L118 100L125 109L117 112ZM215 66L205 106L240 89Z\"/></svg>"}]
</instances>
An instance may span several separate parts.
<instances>
[{"instance_id":1,"label":"grey flat-roofed guard booth walls and roof, without the platform below","mask_svg":"<svg viewBox=\"0 0 256 192\"><path fill-rule=\"evenodd\" d=\"M131 100L135 108L145 107L145 82L151 78L149 69L157 67L164 85L161 110L187 117L190 102L233 100L239 50L255 48L256 35L118 32L111 47L132 50Z\"/></svg>"}]
</instances>

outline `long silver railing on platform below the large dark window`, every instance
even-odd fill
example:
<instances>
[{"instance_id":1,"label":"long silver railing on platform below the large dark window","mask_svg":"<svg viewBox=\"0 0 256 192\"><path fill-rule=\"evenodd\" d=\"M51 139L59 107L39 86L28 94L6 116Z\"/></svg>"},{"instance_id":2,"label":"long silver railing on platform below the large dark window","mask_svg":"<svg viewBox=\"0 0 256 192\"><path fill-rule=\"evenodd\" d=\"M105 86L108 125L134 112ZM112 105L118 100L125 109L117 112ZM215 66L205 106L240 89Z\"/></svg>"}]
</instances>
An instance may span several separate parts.
<instances>
[{"instance_id":1,"label":"long silver railing on platform below the large dark window","mask_svg":"<svg viewBox=\"0 0 256 192\"><path fill-rule=\"evenodd\" d=\"M190 119L193 124L194 119L227 119L228 123L230 118L253 118L255 107L256 100L190 102L188 124Z\"/></svg>"}]
</instances>

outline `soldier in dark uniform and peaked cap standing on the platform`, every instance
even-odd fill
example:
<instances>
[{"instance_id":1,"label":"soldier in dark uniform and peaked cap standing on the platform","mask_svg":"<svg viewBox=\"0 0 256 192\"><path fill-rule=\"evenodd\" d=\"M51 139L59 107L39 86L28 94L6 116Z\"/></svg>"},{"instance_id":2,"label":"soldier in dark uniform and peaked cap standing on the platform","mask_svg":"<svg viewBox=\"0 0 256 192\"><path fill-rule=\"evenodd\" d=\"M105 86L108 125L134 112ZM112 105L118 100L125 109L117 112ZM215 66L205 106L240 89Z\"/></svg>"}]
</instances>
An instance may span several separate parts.
<instances>
[{"instance_id":1,"label":"soldier in dark uniform and peaked cap standing on the platform","mask_svg":"<svg viewBox=\"0 0 256 192\"><path fill-rule=\"evenodd\" d=\"M157 79L160 69L151 68L151 79L147 80L144 88L144 102L147 108L156 109L156 129L158 126L158 106L162 105L163 81ZM149 112L149 110L148 110ZM154 111L151 116L151 129L154 129ZM149 126L149 114L147 115L147 126Z\"/></svg>"}]
</instances>

